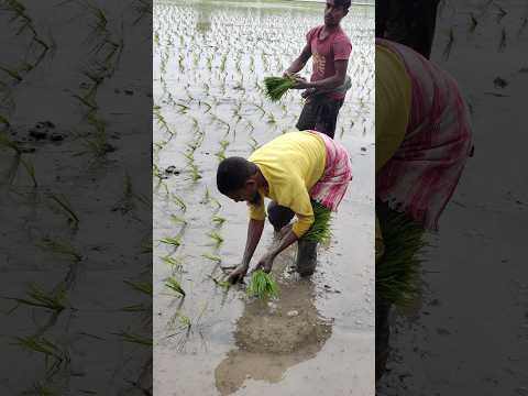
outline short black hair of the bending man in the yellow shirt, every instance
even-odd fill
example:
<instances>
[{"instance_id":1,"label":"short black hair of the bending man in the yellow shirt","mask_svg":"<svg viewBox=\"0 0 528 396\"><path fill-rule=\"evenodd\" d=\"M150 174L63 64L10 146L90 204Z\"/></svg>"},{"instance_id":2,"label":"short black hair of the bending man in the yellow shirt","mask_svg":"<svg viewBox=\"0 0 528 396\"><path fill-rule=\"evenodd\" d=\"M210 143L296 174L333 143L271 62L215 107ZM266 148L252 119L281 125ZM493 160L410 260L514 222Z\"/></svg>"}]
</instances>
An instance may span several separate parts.
<instances>
[{"instance_id":1,"label":"short black hair of the bending man in the yellow shirt","mask_svg":"<svg viewBox=\"0 0 528 396\"><path fill-rule=\"evenodd\" d=\"M253 163L238 156L222 160L217 170L218 190L228 195L244 187L245 182L255 173L255 167Z\"/></svg>"}]
</instances>

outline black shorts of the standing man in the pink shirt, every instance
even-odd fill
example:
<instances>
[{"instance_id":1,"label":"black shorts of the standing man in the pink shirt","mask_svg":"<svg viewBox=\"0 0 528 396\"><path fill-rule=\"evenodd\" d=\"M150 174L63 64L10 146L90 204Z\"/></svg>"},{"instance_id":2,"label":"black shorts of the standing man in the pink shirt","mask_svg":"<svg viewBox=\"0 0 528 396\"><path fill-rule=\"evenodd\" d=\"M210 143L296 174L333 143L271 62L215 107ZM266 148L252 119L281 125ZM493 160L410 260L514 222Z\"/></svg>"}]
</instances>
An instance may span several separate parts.
<instances>
[{"instance_id":1,"label":"black shorts of the standing man in the pink shirt","mask_svg":"<svg viewBox=\"0 0 528 396\"><path fill-rule=\"evenodd\" d=\"M332 99L326 95L310 97L300 112L297 125L299 131L312 130L333 139L338 114L344 99Z\"/></svg>"}]
</instances>

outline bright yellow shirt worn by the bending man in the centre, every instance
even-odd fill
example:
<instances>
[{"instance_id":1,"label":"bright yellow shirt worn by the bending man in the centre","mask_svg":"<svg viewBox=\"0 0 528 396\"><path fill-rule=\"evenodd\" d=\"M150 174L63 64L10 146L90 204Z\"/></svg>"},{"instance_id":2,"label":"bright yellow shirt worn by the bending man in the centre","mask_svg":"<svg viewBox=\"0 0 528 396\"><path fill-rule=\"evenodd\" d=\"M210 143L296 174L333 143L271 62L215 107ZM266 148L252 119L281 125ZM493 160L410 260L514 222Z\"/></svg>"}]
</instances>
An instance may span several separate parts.
<instances>
[{"instance_id":1,"label":"bright yellow shirt worn by the bending man in the centre","mask_svg":"<svg viewBox=\"0 0 528 396\"><path fill-rule=\"evenodd\" d=\"M314 223L308 191L321 178L326 160L324 141L309 132L285 133L255 150L248 158L258 166L267 182L267 190L258 190L261 197L271 198L296 213L293 231L298 238ZM266 218L264 199L260 205L248 205L252 219Z\"/></svg>"}]
</instances>

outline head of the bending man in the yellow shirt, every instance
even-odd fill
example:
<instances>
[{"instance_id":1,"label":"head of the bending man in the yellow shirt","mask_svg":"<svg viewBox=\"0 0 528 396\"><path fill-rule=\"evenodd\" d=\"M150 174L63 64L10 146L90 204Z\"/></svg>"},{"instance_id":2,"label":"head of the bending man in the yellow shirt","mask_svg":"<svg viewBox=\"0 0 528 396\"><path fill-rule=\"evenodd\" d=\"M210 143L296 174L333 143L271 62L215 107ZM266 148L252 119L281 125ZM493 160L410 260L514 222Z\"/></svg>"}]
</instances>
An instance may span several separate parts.
<instances>
[{"instance_id":1,"label":"head of the bending man in the yellow shirt","mask_svg":"<svg viewBox=\"0 0 528 396\"><path fill-rule=\"evenodd\" d=\"M242 157L229 157L218 165L218 190L232 200L258 204L258 167Z\"/></svg>"}]
</instances>

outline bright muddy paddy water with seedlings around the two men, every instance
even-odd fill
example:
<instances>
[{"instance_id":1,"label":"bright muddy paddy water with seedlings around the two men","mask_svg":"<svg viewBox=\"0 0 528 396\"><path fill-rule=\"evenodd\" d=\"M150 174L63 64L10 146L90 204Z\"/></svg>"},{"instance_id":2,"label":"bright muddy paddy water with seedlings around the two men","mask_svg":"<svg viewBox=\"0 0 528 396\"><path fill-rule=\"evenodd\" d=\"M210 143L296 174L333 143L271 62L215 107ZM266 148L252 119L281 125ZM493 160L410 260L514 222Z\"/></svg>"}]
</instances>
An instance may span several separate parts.
<instances>
[{"instance_id":1,"label":"bright muddy paddy water with seedlings around the two men","mask_svg":"<svg viewBox=\"0 0 528 396\"><path fill-rule=\"evenodd\" d=\"M243 286L226 290L213 280L223 275L220 266L240 261L248 227L244 204L216 190L218 162L222 155L248 156L294 129L299 92L271 103L262 80L280 74L302 48L308 29L321 21L322 6L306 2L154 7L156 395L373 394L372 7L352 7L344 20L353 41L353 88L336 139L349 148L354 179L330 242L319 249L316 274L299 279L292 272L293 246L275 262L280 296L273 301L250 299ZM161 242L167 237L176 244ZM273 243L266 224L254 257ZM169 276L185 298L165 286Z\"/></svg>"}]
</instances>

